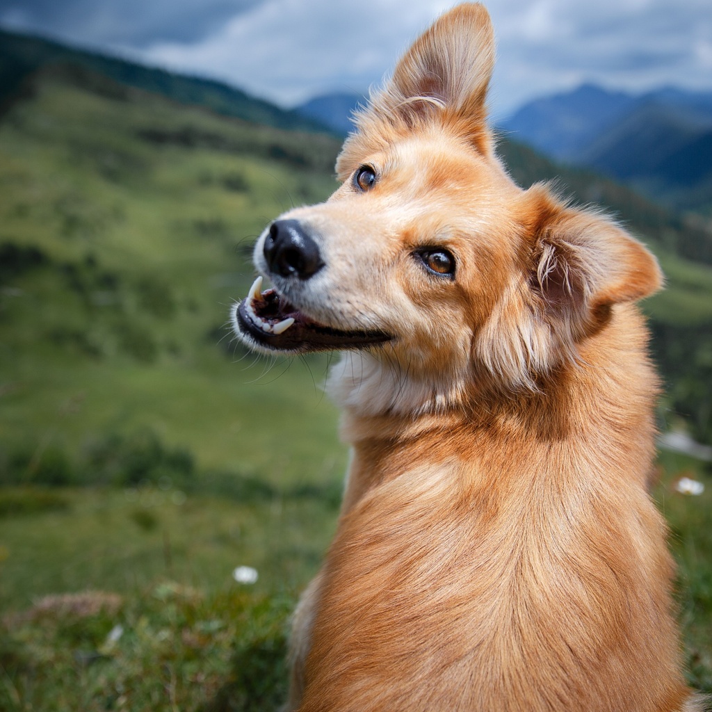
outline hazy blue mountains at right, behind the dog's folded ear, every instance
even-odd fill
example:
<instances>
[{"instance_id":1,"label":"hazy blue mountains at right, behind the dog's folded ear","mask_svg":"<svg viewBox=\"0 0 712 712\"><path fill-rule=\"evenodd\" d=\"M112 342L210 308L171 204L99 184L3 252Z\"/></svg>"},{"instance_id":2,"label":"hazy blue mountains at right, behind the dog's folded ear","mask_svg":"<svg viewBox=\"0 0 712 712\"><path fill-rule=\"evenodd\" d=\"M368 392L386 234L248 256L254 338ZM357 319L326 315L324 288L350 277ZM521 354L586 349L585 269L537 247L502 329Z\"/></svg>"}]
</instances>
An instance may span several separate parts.
<instances>
[{"instance_id":1,"label":"hazy blue mountains at right, behind the dog's folded ear","mask_svg":"<svg viewBox=\"0 0 712 712\"><path fill-rule=\"evenodd\" d=\"M502 128L671 207L712 214L712 93L661 88L636 96L585 85L528 103Z\"/></svg>"}]
</instances>

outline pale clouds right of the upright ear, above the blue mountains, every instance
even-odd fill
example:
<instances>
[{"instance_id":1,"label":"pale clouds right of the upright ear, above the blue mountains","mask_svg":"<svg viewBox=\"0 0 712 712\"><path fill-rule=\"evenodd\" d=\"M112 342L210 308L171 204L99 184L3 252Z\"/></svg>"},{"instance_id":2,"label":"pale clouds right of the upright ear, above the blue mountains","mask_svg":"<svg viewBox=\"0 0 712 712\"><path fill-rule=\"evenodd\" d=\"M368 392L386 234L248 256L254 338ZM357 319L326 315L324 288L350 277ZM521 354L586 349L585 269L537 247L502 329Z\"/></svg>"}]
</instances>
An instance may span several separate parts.
<instances>
[{"instance_id":1,"label":"pale clouds right of the upright ear, above the blue mountains","mask_svg":"<svg viewBox=\"0 0 712 712\"><path fill-rule=\"evenodd\" d=\"M643 92L712 90L708 0L493 1L503 106L584 82ZM511 98L510 98L511 97Z\"/></svg>"}]
</instances>

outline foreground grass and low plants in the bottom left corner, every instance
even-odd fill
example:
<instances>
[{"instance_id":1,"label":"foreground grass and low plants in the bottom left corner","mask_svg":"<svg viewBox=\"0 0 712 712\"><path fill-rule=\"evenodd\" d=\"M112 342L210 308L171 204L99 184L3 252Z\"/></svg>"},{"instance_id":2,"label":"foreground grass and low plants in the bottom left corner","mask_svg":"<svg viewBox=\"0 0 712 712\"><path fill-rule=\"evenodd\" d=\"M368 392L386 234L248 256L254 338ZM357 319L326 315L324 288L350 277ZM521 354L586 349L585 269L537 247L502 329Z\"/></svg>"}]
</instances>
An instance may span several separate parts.
<instances>
[{"instance_id":1,"label":"foreground grass and low plants in the bottom left corner","mask_svg":"<svg viewBox=\"0 0 712 712\"><path fill-rule=\"evenodd\" d=\"M206 596L171 580L132 600L104 592L38 601L0 637L0 705L43 712L262 712L285 692L290 597ZM21 622L20 622L21 621Z\"/></svg>"}]
</instances>

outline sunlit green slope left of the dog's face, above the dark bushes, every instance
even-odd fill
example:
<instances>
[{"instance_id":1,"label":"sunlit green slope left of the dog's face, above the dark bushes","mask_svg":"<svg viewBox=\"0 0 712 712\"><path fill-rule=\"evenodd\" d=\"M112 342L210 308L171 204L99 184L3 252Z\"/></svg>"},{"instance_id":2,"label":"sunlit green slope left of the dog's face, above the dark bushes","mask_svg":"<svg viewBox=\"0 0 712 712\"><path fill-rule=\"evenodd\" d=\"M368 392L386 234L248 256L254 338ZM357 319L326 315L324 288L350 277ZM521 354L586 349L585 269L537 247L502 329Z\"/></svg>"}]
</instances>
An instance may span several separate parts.
<instances>
[{"instance_id":1,"label":"sunlit green slope left of the dog's face, above the dark bushes","mask_svg":"<svg viewBox=\"0 0 712 712\"><path fill-rule=\"evenodd\" d=\"M185 125L253 155L136 137ZM302 140L333 159L328 140ZM54 77L16 106L0 127L0 243L37 246L48 263L7 278L0 296L0 439L29 434L75 449L96 432L153 424L210 466L244 459L305 471L303 444L320 439L333 454L333 435L323 435L333 412L318 407L313 380L323 362L311 372L295 362L288 389L268 387L287 365L253 365L221 330L249 286L246 251L269 217L333 187L323 170L259 156L261 145L268 153L293 141L147 96L100 98ZM145 294L151 285L162 293ZM271 426L286 410L298 414L296 439Z\"/></svg>"}]
</instances>

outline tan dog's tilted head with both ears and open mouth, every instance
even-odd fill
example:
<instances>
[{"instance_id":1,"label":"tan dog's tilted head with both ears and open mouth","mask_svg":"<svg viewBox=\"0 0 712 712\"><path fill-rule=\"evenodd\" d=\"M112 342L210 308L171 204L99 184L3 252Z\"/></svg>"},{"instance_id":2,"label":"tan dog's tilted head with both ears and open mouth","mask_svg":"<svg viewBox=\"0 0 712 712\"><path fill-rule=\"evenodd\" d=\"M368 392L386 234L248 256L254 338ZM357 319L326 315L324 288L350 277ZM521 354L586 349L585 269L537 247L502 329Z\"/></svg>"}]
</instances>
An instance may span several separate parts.
<instances>
[{"instance_id":1,"label":"tan dog's tilted head with both ears and open mouth","mask_svg":"<svg viewBox=\"0 0 712 712\"><path fill-rule=\"evenodd\" d=\"M360 384L387 365L417 407L441 406L486 379L533 387L615 304L659 287L654 258L612 221L508 177L486 123L493 47L486 10L463 4L409 49L357 115L340 188L258 240L273 288L258 278L234 309L248 345L357 352Z\"/></svg>"}]
</instances>

